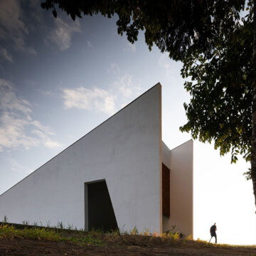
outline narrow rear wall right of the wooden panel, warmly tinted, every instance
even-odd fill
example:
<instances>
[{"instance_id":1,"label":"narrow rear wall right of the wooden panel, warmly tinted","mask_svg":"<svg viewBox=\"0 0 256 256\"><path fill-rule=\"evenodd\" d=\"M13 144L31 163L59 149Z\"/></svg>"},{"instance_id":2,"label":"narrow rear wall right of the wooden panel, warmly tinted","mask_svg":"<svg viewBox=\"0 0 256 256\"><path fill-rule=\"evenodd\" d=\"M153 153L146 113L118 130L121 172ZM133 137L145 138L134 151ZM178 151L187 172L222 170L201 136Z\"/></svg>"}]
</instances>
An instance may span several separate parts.
<instances>
[{"instance_id":1,"label":"narrow rear wall right of the wooden panel, warmly tinted","mask_svg":"<svg viewBox=\"0 0 256 256\"><path fill-rule=\"evenodd\" d=\"M193 236L193 140L171 150L171 215L169 225Z\"/></svg>"}]
</instances>

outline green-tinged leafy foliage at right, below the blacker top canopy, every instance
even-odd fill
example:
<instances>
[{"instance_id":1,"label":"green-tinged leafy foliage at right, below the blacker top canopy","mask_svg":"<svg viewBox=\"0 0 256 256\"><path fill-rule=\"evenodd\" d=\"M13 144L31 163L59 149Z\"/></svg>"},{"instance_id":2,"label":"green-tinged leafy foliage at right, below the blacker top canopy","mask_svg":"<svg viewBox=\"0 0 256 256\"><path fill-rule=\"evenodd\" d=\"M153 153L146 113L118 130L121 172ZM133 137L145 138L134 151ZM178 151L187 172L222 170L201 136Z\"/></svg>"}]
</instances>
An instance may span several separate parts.
<instances>
[{"instance_id":1,"label":"green-tinged leafy foliage at right, below the blacker top canopy","mask_svg":"<svg viewBox=\"0 0 256 256\"><path fill-rule=\"evenodd\" d=\"M184 104L191 132L201 142L214 140L220 154L240 153L250 161L252 137L252 21L236 23L232 33L220 33L211 58L193 53L183 61L181 75L191 78L185 88L191 102ZM249 60L249 61L248 61Z\"/></svg>"}]
</instances>

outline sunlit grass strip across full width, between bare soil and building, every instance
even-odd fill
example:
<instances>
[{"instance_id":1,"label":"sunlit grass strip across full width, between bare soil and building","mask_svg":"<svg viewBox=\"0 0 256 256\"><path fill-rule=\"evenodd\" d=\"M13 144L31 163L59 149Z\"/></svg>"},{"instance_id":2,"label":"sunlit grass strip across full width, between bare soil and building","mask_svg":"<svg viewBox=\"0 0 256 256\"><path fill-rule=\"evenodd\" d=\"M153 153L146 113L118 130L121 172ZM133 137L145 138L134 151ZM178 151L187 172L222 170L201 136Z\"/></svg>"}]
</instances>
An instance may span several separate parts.
<instances>
[{"instance_id":1,"label":"sunlit grass strip across full width, between bare soil and building","mask_svg":"<svg viewBox=\"0 0 256 256\"><path fill-rule=\"evenodd\" d=\"M85 230L72 230L73 225L68 225L67 229L64 229L63 223L58 223L55 228L40 227L38 223L32 225L12 225L9 223L0 224L0 239L31 239L31 240L46 240L54 242L71 242L78 245L107 245L115 242L127 242L134 243L150 243L154 241L161 241L172 245L181 246L193 246L193 247L256 247L247 245L225 245L210 243L205 240L193 240L191 236L185 239L181 238L181 234L178 232L166 232L166 233L149 233L148 229L139 233L137 228L132 230L120 231L112 230L111 232L104 233L102 230L91 230L85 232Z\"/></svg>"}]
</instances>

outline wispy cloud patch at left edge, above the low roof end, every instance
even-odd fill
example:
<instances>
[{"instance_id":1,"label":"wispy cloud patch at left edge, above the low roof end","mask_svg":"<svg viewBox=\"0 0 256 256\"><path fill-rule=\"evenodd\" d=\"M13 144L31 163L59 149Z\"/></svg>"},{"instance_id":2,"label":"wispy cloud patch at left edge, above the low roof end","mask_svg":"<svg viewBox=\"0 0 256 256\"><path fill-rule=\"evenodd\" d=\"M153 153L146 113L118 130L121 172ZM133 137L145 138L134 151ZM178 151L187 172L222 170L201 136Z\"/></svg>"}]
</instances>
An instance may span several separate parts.
<instances>
[{"instance_id":1,"label":"wispy cloud patch at left edge, above the low roof end","mask_svg":"<svg viewBox=\"0 0 256 256\"><path fill-rule=\"evenodd\" d=\"M48 148L62 146L51 139L50 127L31 117L32 106L18 97L14 85L0 79L0 151L44 145Z\"/></svg>"}]
</instances>

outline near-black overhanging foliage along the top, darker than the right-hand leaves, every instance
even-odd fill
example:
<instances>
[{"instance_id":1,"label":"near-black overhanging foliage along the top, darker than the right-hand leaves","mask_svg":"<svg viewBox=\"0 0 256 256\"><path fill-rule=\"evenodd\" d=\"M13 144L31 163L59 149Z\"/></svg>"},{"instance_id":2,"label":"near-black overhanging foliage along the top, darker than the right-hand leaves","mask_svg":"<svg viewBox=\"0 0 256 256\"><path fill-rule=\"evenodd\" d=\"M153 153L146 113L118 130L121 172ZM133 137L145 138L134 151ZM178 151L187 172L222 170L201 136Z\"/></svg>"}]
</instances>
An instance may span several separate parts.
<instances>
[{"instance_id":1,"label":"near-black overhanging foliage along the top, darker than the right-hand leaves","mask_svg":"<svg viewBox=\"0 0 256 256\"><path fill-rule=\"evenodd\" d=\"M244 4L244 0L46 0L41 6L53 9L55 17L58 6L73 20L82 15L100 13L111 18L117 14L117 31L126 33L128 41L137 41L143 30L150 50L155 43L170 58L183 60L195 49L210 55L220 26L227 30L234 26Z\"/></svg>"}]
</instances>

